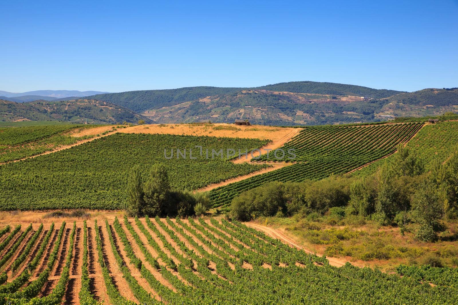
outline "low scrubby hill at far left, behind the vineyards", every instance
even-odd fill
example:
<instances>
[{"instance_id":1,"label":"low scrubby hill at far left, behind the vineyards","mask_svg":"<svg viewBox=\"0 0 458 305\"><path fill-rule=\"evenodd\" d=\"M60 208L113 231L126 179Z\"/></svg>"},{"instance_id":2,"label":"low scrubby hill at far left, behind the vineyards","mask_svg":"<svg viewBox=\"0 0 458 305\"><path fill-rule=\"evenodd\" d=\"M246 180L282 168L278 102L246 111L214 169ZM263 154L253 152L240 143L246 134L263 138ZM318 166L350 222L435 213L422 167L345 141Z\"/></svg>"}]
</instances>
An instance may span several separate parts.
<instances>
[{"instance_id":1,"label":"low scrubby hill at far left, behind the vineyards","mask_svg":"<svg viewBox=\"0 0 458 305\"><path fill-rule=\"evenodd\" d=\"M0 100L0 121L64 121L70 123L151 123L130 109L94 100L44 101L17 103Z\"/></svg>"}]
</instances>

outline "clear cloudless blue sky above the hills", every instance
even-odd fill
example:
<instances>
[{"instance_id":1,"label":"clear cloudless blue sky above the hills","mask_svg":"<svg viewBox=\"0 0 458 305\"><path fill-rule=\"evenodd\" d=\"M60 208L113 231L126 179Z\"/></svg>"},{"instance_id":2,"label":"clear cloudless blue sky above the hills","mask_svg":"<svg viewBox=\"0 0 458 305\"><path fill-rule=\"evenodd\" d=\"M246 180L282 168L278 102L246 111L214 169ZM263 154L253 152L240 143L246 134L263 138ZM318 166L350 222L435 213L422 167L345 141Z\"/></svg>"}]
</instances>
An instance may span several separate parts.
<instances>
[{"instance_id":1,"label":"clear cloudless blue sky above the hills","mask_svg":"<svg viewBox=\"0 0 458 305\"><path fill-rule=\"evenodd\" d=\"M458 87L457 0L67 2L1 1L0 90Z\"/></svg>"}]
</instances>

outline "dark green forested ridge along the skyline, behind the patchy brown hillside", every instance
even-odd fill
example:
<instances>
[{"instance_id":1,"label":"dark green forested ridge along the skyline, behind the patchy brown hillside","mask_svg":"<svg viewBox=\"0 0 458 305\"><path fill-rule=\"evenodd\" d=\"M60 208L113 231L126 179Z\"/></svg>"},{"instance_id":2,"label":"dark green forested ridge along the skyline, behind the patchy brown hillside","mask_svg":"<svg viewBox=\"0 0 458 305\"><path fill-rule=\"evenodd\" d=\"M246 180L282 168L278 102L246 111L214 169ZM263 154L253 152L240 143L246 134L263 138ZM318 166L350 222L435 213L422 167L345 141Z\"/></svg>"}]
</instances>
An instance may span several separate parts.
<instances>
[{"instance_id":1,"label":"dark green forested ridge along the skyline, behind the patchy brown hillside","mask_svg":"<svg viewBox=\"0 0 458 305\"><path fill-rule=\"evenodd\" d=\"M288 91L296 93L315 93L332 95L368 96L383 98L402 93L395 90L378 90L362 86L315 81L293 81L253 88L185 87L168 90L142 90L120 93L107 93L87 96L88 99L101 100L129 108L136 112L149 109L170 107L181 102L193 101L207 96L237 95L242 90L265 89L268 91Z\"/></svg>"}]
</instances>

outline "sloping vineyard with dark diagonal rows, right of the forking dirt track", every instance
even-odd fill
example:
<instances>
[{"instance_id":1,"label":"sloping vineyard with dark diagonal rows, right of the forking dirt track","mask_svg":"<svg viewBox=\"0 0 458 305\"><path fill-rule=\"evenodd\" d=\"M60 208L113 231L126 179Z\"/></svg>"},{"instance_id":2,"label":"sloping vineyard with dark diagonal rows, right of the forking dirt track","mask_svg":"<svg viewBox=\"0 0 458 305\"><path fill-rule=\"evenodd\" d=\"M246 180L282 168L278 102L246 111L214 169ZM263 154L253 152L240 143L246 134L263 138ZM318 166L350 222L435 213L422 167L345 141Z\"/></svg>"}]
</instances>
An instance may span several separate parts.
<instances>
[{"instance_id":1,"label":"sloping vineyard with dark diagonal rows, right of the forking dirt track","mask_svg":"<svg viewBox=\"0 0 458 305\"><path fill-rule=\"evenodd\" d=\"M423 123L376 124L360 126L310 126L260 161L285 161L294 149L296 162L275 171L256 175L211 191L214 207L227 206L232 198L265 182L301 182L342 174L389 155L399 143L407 142ZM281 158L281 159L279 159Z\"/></svg>"}]
</instances>

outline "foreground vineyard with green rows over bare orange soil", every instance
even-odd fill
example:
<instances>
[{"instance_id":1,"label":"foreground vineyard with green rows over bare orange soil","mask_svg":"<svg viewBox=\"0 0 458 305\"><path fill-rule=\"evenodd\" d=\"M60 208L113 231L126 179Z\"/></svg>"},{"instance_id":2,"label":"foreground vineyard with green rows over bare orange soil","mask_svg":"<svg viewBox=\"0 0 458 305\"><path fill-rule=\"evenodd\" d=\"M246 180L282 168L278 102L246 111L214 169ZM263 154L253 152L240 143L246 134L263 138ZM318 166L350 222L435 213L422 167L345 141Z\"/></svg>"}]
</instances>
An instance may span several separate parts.
<instances>
[{"instance_id":1,"label":"foreground vineyard with green rows over bare orange soil","mask_svg":"<svg viewBox=\"0 0 458 305\"><path fill-rule=\"evenodd\" d=\"M0 304L458 302L457 269L336 268L224 219L125 217L29 227L7 243L29 250L2 267Z\"/></svg>"}]
</instances>

